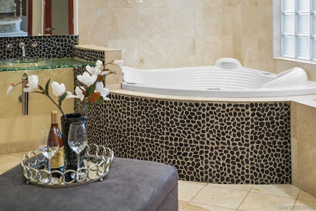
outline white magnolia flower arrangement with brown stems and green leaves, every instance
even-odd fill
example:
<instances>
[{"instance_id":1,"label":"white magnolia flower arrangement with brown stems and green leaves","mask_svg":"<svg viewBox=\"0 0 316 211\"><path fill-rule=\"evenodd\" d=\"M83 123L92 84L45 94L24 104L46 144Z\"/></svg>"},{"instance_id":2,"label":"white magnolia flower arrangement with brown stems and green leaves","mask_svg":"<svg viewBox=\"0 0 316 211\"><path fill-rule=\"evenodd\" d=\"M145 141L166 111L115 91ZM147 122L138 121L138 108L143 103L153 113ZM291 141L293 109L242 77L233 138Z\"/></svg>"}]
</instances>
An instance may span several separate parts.
<instances>
[{"instance_id":1,"label":"white magnolia flower arrangement with brown stems and green leaves","mask_svg":"<svg viewBox=\"0 0 316 211\"><path fill-rule=\"evenodd\" d=\"M82 75L77 75L77 79L82 83L82 86L77 86L75 89L75 94L72 94L69 91L66 91L66 87L63 83L59 84L56 81L51 83L51 88L53 95L58 97L58 103L53 100L53 98L49 95L49 83L50 79L46 82L45 87L39 85L39 77L38 75L27 75L24 73L22 75L22 79L26 80L25 87L23 89L24 92L35 92L40 93L49 98L50 101L54 105L58 107L63 115L65 115L64 111L61 108L63 100L66 98L78 98L80 99L80 107L81 107L81 116L87 110L91 110L94 103L101 103L103 101L110 100L107 96L110 92L108 88L104 87L105 77L109 74L115 73L115 71L106 69L107 65L116 65L119 68L122 68L123 61L121 60L112 60L109 63L103 65L100 60L97 60L95 63L95 67L86 66ZM7 94L12 94L14 87L22 82L12 83L7 89Z\"/></svg>"}]
</instances>

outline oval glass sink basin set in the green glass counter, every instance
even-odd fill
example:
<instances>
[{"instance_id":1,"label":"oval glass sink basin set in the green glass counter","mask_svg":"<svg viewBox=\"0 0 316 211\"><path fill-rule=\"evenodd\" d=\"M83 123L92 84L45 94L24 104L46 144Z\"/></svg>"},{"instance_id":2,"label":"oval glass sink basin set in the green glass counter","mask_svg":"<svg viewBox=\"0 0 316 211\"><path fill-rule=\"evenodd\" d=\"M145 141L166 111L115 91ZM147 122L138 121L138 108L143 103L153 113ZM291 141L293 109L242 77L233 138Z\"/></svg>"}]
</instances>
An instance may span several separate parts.
<instances>
[{"instance_id":1,"label":"oval glass sink basin set in the green glass counter","mask_svg":"<svg viewBox=\"0 0 316 211\"><path fill-rule=\"evenodd\" d=\"M50 59L45 58L18 58L0 60L1 68L32 68L46 66L51 63Z\"/></svg>"}]
</instances>

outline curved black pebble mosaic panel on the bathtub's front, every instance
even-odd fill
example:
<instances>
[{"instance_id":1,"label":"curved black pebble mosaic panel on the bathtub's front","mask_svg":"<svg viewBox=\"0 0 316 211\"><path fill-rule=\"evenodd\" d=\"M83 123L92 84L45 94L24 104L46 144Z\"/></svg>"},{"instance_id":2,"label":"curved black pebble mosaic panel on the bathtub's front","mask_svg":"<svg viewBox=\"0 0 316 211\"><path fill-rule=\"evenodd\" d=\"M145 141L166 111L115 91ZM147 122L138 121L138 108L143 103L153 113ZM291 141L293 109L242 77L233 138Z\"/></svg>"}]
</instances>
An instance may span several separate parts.
<instances>
[{"instance_id":1,"label":"curved black pebble mosaic panel on the bathtub's front","mask_svg":"<svg viewBox=\"0 0 316 211\"><path fill-rule=\"evenodd\" d=\"M170 164L183 180L291 183L289 103L110 98L87 114L88 136L118 157Z\"/></svg>"}]
</instances>

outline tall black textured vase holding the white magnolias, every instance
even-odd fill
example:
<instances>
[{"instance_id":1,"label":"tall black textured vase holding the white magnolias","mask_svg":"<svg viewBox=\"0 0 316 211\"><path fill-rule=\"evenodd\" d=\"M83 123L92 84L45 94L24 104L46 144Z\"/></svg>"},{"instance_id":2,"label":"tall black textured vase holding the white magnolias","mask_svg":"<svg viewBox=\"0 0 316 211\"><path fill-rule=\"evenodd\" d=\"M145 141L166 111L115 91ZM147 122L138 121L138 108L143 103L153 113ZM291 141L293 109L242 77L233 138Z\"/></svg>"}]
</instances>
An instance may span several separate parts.
<instances>
[{"instance_id":1,"label":"tall black textured vase holding the white magnolias","mask_svg":"<svg viewBox=\"0 0 316 211\"><path fill-rule=\"evenodd\" d=\"M77 153L73 151L68 145L68 133L70 124L73 122L83 122L85 124L85 128L87 129L87 116L81 117L80 113L69 113L62 115L60 117L61 120L61 130L62 130L62 138L64 141L64 150L65 150L65 171L72 169L77 171ZM80 167L84 167L83 159L84 159L85 149L80 152ZM66 181L70 181L71 174L65 175Z\"/></svg>"}]
</instances>

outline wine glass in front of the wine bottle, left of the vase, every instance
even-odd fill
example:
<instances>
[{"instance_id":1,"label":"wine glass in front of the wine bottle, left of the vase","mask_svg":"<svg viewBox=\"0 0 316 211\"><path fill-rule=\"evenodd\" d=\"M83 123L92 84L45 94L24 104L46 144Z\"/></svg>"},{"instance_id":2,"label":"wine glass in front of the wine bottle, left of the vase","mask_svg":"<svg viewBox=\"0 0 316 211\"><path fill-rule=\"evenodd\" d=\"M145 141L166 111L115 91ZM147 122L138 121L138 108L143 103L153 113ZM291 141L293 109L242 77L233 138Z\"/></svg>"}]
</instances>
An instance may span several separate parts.
<instances>
[{"instance_id":1,"label":"wine glass in front of the wine bottle, left of the vase","mask_svg":"<svg viewBox=\"0 0 316 211\"><path fill-rule=\"evenodd\" d=\"M47 171L50 174L50 159L58 151L59 148L59 139L57 134L54 134L54 131L48 130L47 128L42 128L40 131L40 152L47 158ZM52 178L51 178L52 179ZM49 182L48 178L43 180L45 183Z\"/></svg>"}]
</instances>

